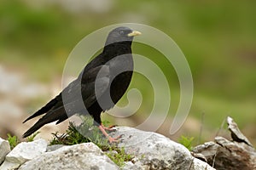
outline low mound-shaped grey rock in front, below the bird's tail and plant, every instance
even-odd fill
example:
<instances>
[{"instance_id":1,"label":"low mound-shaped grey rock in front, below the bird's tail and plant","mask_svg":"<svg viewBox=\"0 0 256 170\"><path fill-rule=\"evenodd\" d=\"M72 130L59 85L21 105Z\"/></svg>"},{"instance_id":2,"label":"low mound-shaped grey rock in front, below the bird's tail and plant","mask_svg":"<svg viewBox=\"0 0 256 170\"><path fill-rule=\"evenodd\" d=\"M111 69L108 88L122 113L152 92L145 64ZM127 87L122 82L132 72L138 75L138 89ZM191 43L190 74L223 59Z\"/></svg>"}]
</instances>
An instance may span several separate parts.
<instances>
[{"instance_id":1,"label":"low mound-shaped grey rock in front, below the bird's tail and plant","mask_svg":"<svg viewBox=\"0 0 256 170\"><path fill-rule=\"evenodd\" d=\"M32 161L26 161L19 170L73 170L73 169L119 169L96 144L85 143L63 146L58 150L45 152Z\"/></svg>"}]
</instances>

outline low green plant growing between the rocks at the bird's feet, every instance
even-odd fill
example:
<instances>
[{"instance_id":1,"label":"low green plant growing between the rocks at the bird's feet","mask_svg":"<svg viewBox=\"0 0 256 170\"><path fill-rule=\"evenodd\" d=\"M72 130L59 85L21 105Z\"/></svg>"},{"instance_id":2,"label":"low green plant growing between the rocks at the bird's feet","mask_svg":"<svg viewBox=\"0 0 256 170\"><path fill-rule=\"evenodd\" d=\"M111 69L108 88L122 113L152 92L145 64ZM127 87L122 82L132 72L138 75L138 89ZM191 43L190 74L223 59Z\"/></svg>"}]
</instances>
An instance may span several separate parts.
<instances>
[{"instance_id":1,"label":"low green plant growing between the rocks at the bird's feet","mask_svg":"<svg viewBox=\"0 0 256 170\"><path fill-rule=\"evenodd\" d=\"M106 155L115 162L119 167L125 165L125 161L131 161L133 156L126 154L124 148L119 149L114 144L109 144L108 139L105 138L98 127L93 125L93 119L90 116L81 116L83 123L75 126L70 122L66 133L58 135L53 133L54 138L50 144L81 144L93 142L106 153ZM108 122L103 122L104 125Z\"/></svg>"}]
</instances>

